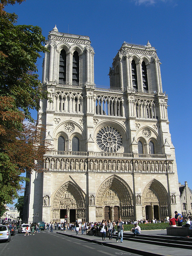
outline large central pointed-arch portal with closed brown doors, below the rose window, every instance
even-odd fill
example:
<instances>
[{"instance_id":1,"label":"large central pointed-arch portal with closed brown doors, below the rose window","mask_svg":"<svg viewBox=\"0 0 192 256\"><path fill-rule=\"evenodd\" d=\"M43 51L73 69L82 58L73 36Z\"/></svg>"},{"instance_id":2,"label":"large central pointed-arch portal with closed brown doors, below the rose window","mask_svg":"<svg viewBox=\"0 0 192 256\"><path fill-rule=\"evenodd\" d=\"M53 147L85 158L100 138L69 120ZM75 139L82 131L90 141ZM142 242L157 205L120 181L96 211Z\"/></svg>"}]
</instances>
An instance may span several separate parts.
<instances>
[{"instance_id":1,"label":"large central pointed-arch portal with closed brown doors, below the rose window","mask_svg":"<svg viewBox=\"0 0 192 256\"><path fill-rule=\"evenodd\" d=\"M133 193L128 184L113 175L104 180L96 195L96 219L134 218Z\"/></svg>"}]
</instances>

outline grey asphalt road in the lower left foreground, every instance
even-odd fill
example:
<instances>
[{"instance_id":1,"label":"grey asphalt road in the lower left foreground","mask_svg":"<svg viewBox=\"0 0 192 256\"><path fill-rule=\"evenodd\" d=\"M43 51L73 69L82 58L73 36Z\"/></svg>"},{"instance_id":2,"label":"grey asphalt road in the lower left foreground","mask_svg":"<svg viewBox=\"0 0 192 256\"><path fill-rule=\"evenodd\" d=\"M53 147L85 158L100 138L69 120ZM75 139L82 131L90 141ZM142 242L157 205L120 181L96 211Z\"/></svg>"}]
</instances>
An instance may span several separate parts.
<instances>
[{"instance_id":1,"label":"grey asphalt road in the lower left foreground","mask_svg":"<svg viewBox=\"0 0 192 256\"><path fill-rule=\"evenodd\" d=\"M130 252L41 231L34 236L16 233L9 243L0 242L0 256L138 256Z\"/></svg>"}]
</instances>

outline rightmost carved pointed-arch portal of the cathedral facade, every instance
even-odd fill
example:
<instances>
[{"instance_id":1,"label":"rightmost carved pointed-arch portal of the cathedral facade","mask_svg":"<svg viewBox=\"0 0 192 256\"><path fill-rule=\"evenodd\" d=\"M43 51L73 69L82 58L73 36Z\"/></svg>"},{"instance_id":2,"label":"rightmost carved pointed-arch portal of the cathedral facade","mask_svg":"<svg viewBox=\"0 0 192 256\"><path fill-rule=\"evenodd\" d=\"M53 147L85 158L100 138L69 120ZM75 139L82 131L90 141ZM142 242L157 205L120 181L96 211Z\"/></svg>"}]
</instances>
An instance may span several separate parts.
<instances>
[{"instance_id":1,"label":"rightmost carved pointed-arch portal of the cathedral facade","mask_svg":"<svg viewBox=\"0 0 192 256\"><path fill-rule=\"evenodd\" d=\"M168 192L156 179L151 180L142 193L142 215L144 219L164 219L168 216Z\"/></svg>"}]
</instances>

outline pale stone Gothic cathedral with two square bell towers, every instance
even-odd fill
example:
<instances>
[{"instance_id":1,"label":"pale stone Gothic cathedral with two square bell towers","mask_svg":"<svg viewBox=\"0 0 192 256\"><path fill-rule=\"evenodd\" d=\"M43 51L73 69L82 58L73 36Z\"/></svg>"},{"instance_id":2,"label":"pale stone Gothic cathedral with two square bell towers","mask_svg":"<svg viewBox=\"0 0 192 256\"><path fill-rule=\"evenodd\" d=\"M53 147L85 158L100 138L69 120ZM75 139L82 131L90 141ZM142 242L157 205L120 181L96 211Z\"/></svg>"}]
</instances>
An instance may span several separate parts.
<instances>
[{"instance_id":1,"label":"pale stone Gothic cathedral with two square bell towers","mask_svg":"<svg viewBox=\"0 0 192 256\"><path fill-rule=\"evenodd\" d=\"M110 88L94 84L88 36L49 32L38 122L52 149L32 172L28 222L162 219L180 211L168 97L151 44L124 42L109 70Z\"/></svg>"}]
</instances>

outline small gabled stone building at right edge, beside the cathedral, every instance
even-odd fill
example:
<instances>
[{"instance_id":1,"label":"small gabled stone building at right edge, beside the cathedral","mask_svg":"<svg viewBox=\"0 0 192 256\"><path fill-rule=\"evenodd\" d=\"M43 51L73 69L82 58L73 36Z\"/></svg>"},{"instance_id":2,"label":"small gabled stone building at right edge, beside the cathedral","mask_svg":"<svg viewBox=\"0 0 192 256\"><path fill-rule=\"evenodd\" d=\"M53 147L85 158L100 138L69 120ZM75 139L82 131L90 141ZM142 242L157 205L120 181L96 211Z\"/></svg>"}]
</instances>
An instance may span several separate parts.
<instances>
[{"instance_id":1,"label":"small gabled stone building at right edge, beside the cathedral","mask_svg":"<svg viewBox=\"0 0 192 256\"><path fill-rule=\"evenodd\" d=\"M192 190L188 188L188 184L185 181L185 185L179 183L179 191L181 198L181 212L183 217L192 216Z\"/></svg>"}]
</instances>

